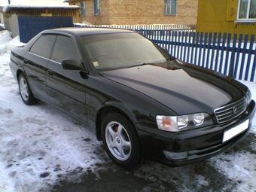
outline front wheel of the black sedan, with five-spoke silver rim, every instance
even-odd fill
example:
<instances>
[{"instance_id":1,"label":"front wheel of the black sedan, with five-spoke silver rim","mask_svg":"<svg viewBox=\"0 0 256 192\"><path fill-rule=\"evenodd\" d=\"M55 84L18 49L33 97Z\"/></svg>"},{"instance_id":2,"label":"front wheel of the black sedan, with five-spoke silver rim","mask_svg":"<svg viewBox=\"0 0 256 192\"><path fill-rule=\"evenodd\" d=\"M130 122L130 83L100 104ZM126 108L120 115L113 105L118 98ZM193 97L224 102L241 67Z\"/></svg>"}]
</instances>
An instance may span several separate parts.
<instances>
[{"instance_id":1,"label":"front wheel of the black sedan, with five-spoke silver rim","mask_svg":"<svg viewBox=\"0 0 256 192\"><path fill-rule=\"evenodd\" d=\"M102 142L108 156L124 168L140 163L139 137L130 120L118 113L107 114L102 121Z\"/></svg>"}]
</instances>

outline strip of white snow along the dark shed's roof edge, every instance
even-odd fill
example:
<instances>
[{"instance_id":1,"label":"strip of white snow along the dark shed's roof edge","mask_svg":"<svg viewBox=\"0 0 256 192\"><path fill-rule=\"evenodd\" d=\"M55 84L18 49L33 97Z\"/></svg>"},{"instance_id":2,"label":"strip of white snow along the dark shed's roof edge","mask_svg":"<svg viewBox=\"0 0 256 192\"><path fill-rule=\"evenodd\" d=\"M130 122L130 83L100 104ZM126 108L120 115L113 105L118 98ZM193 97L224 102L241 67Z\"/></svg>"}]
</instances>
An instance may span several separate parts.
<instances>
[{"instance_id":1,"label":"strip of white snow along the dark shed's roof edge","mask_svg":"<svg viewBox=\"0 0 256 192\"><path fill-rule=\"evenodd\" d=\"M77 5L7 5L3 8L5 13L8 13L13 8L68 8L68 9L78 9Z\"/></svg>"}]
</instances>

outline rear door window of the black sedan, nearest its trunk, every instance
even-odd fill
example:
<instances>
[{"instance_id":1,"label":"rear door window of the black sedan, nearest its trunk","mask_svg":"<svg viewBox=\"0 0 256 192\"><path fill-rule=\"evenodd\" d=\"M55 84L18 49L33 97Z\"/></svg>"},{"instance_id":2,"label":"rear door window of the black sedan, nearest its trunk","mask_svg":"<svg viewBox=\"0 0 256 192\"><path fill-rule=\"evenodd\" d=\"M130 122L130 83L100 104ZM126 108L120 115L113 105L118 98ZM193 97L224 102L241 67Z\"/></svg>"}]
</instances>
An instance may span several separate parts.
<instances>
[{"instance_id":1,"label":"rear door window of the black sedan, nearest its trunk","mask_svg":"<svg viewBox=\"0 0 256 192\"><path fill-rule=\"evenodd\" d=\"M53 44L56 39L56 35L41 35L35 44L30 48L31 53L35 53L39 56L44 56L50 59L51 50L53 50Z\"/></svg>"}]
</instances>

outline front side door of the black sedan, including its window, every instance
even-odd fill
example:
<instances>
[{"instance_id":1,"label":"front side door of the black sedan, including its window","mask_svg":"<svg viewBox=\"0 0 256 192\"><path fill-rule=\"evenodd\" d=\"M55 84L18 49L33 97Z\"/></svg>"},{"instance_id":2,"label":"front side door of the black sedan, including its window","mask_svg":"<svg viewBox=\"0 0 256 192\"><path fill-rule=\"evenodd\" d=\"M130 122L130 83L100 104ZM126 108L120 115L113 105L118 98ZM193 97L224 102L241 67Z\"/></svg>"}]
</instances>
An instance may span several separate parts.
<instances>
[{"instance_id":1,"label":"front side door of the black sedan, including its window","mask_svg":"<svg viewBox=\"0 0 256 192\"><path fill-rule=\"evenodd\" d=\"M51 104L87 124L85 91L87 79L79 70L62 69L63 59L76 59L82 66L75 38L58 35L47 65L47 94ZM82 77L83 76L83 77Z\"/></svg>"}]
</instances>

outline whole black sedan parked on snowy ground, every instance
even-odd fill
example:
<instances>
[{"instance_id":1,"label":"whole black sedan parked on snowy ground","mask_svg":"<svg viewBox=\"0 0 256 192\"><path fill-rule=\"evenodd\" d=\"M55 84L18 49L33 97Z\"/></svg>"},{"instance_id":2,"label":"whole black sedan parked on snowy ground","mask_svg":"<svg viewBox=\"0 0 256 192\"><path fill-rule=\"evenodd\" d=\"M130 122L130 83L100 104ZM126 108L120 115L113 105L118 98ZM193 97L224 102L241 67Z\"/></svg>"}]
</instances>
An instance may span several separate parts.
<instances>
[{"instance_id":1,"label":"whole black sedan parked on snowy ground","mask_svg":"<svg viewBox=\"0 0 256 192\"><path fill-rule=\"evenodd\" d=\"M243 84L129 30L46 30L11 50L10 68L26 105L41 100L74 117L124 167L142 157L181 166L227 151L255 113Z\"/></svg>"}]
</instances>

